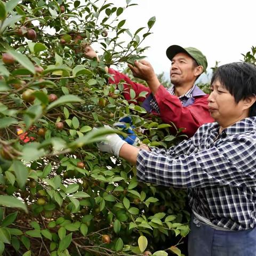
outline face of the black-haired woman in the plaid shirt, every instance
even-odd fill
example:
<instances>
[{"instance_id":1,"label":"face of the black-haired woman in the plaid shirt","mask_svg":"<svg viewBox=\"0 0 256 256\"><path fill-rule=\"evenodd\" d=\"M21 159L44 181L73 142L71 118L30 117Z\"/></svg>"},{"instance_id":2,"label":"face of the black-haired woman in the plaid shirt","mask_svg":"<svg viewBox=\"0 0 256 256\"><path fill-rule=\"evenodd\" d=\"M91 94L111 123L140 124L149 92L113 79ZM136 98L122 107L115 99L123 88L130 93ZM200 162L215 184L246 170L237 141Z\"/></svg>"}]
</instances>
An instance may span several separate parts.
<instances>
[{"instance_id":1,"label":"face of the black-haired woman in the plaid shirt","mask_svg":"<svg viewBox=\"0 0 256 256\"><path fill-rule=\"evenodd\" d=\"M208 102L211 116L223 128L248 117L249 109L245 107L245 101L236 103L234 96L218 79L211 85Z\"/></svg>"}]
</instances>

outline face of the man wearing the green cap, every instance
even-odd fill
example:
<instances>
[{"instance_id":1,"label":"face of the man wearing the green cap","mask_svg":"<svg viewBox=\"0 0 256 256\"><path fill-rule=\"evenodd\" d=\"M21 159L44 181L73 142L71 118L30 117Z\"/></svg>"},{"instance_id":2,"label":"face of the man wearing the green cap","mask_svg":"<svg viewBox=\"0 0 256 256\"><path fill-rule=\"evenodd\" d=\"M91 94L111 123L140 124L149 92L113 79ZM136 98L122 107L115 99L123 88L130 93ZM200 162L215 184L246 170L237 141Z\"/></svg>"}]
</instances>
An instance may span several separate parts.
<instances>
[{"instance_id":1,"label":"face of the man wearing the green cap","mask_svg":"<svg viewBox=\"0 0 256 256\"><path fill-rule=\"evenodd\" d=\"M170 70L171 83L174 85L194 83L197 76L194 63L194 60L186 53L176 54L172 59Z\"/></svg>"}]
</instances>

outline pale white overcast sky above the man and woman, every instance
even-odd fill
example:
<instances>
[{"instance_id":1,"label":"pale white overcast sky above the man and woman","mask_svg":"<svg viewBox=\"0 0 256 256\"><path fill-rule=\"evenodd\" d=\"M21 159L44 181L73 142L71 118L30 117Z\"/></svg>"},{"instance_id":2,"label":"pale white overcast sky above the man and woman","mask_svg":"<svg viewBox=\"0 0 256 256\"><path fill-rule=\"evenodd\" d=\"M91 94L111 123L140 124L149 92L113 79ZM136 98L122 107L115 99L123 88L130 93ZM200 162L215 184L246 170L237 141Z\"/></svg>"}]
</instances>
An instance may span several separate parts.
<instances>
[{"instance_id":1,"label":"pale white overcast sky above the man and woman","mask_svg":"<svg viewBox=\"0 0 256 256\"><path fill-rule=\"evenodd\" d=\"M124 0L118 0L122 6ZM172 44L193 46L201 50L208 60L208 67L215 61L220 65L242 60L241 53L250 51L256 45L255 10L252 0L133 0L138 3L122 14L125 28L133 33L139 27L147 26L149 18L155 16L153 35L143 46L148 60L156 73L169 72L170 61L165 55Z\"/></svg>"}]
</instances>

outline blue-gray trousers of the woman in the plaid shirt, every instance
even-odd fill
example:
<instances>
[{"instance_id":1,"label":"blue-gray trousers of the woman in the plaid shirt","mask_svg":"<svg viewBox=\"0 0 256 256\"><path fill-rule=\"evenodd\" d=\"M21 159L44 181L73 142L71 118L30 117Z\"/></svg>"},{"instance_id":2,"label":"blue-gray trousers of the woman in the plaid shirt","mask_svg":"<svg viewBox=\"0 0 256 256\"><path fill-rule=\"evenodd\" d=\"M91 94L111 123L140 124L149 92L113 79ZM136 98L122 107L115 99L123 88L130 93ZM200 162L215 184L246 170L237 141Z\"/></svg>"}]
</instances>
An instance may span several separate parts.
<instances>
[{"instance_id":1,"label":"blue-gray trousers of the woman in the plaid shirt","mask_svg":"<svg viewBox=\"0 0 256 256\"><path fill-rule=\"evenodd\" d=\"M256 228L242 231L216 230L191 216L189 256L256 256Z\"/></svg>"}]
</instances>

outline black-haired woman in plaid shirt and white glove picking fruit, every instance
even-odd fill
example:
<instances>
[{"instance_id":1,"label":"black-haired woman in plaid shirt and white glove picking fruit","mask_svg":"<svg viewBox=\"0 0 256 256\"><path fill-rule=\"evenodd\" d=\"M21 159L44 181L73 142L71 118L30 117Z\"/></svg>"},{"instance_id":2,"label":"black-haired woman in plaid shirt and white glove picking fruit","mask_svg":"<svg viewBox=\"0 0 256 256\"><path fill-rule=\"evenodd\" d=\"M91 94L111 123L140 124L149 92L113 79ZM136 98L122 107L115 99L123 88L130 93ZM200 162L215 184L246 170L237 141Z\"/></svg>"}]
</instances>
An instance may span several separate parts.
<instances>
[{"instance_id":1,"label":"black-haired woman in plaid shirt and white glove picking fruit","mask_svg":"<svg viewBox=\"0 0 256 256\"><path fill-rule=\"evenodd\" d=\"M189 256L256 255L256 67L223 65L211 81L215 123L169 149L134 147L117 134L98 145L137 166L138 179L187 188Z\"/></svg>"}]
</instances>

